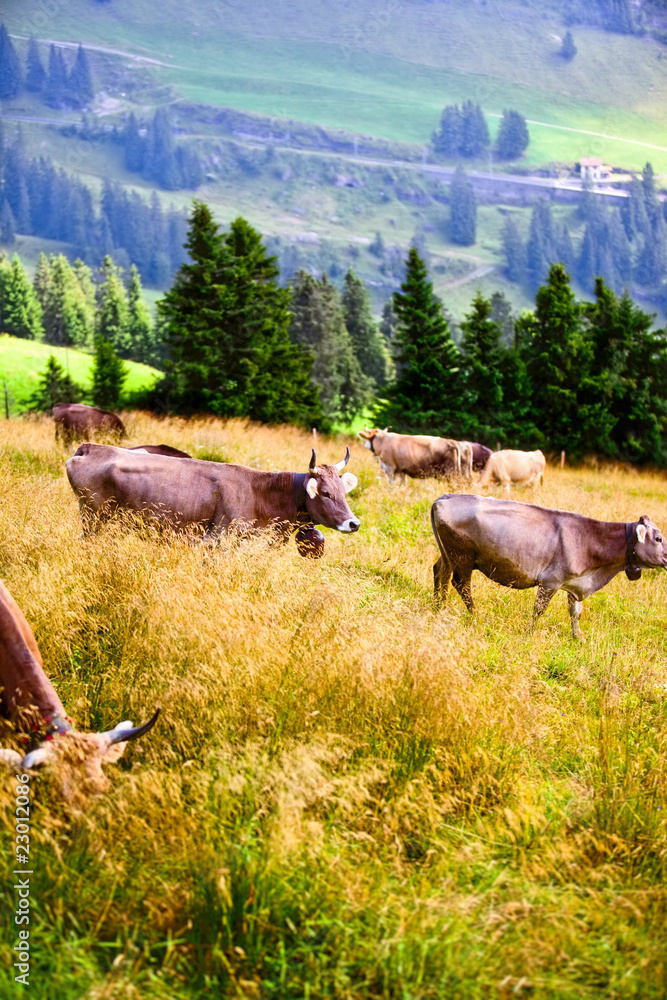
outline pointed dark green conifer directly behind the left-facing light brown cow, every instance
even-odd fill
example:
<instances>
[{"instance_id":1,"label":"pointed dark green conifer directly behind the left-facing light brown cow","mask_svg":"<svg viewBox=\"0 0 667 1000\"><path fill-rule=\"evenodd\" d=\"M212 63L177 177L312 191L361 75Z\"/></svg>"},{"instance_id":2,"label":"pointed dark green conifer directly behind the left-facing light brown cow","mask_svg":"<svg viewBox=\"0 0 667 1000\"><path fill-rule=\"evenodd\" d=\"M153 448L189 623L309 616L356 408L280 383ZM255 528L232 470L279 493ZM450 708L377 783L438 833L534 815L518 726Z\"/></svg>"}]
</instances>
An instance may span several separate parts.
<instances>
[{"instance_id":1,"label":"pointed dark green conifer directly behind the left-facing light brown cow","mask_svg":"<svg viewBox=\"0 0 667 1000\"><path fill-rule=\"evenodd\" d=\"M398 317L397 378L385 389L387 402L378 407L377 419L399 430L451 435L461 423L460 356L414 247L393 309Z\"/></svg>"}]
</instances>

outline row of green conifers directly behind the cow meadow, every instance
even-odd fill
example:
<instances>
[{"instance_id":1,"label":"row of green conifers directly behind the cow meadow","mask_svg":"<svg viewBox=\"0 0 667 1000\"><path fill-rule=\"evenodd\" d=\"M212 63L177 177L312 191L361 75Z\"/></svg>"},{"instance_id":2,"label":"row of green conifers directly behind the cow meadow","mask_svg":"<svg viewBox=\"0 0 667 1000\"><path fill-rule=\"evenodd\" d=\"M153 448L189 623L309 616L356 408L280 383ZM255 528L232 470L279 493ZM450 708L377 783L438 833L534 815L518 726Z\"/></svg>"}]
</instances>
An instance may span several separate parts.
<instances>
[{"instance_id":1,"label":"row of green conifers directly behind the cow meadow","mask_svg":"<svg viewBox=\"0 0 667 1000\"><path fill-rule=\"evenodd\" d=\"M667 464L667 333L600 276L594 301L578 301L565 266L552 264L533 311L516 317L502 295L478 293L455 331L416 247L380 324L352 271L342 293L303 270L283 287L260 234L242 218L221 232L200 202L187 250L152 329L136 271L126 287L106 259L93 283L86 265L42 258L31 299L12 277L16 258L5 259L0 329L7 303L19 303L20 315L41 315L51 342L81 343L96 284L96 350L106 345L110 366L146 345L164 371L146 402L162 411L322 430L366 413L408 433Z\"/></svg>"}]
</instances>

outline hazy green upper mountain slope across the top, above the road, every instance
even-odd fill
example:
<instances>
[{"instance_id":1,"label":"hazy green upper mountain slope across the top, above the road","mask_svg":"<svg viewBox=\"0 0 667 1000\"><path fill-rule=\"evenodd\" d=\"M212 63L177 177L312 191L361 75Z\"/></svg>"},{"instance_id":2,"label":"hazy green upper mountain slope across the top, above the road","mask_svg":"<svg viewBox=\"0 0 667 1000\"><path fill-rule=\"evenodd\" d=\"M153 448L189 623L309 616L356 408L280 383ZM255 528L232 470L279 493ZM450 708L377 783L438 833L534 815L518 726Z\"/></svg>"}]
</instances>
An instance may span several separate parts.
<instances>
[{"instance_id":1,"label":"hazy green upper mountain slope across the top, above the road","mask_svg":"<svg viewBox=\"0 0 667 1000\"><path fill-rule=\"evenodd\" d=\"M574 25L578 53L565 62L559 6L164 0L158 17L153 0L71 0L39 35L141 57L162 100L166 86L202 103L425 143L443 105L470 97L487 114L516 107L535 122L580 130L536 125L529 163L602 155L636 169L649 147L667 150L667 49L648 36ZM34 30L16 0L3 16L13 33ZM120 97L121 108L132 106L129 91Z\"/></svg>"}]
</instances>

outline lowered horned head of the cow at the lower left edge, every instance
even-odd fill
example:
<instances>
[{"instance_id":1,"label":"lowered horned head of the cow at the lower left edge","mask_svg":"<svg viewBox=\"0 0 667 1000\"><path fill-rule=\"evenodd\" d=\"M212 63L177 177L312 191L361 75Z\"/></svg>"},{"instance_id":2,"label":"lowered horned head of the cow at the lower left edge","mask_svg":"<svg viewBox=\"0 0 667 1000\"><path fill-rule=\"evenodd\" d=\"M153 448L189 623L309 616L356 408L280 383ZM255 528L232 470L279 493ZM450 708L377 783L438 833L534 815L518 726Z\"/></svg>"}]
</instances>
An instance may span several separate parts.
<instances>
[{"instance_id":1,"label":"lowered horned head of the cow at the lower left edge","mask_svg":"<svg viewBox=\"0 0 667 1000\"><path fill-rule=\"evenodd\" d=\"M120 722L106 733L75 732L64 719L53 717L48 726L48 735L35 749L22 757L15 750L0 750L0 760L13 771L53 766L58 772L63 797L71 801L80 792L100 794L106 791L109 780L102 765L118 760L129 740L152 729L160 714L155 714L141 726L131 722Z\"/></svg>"}]
</instances>

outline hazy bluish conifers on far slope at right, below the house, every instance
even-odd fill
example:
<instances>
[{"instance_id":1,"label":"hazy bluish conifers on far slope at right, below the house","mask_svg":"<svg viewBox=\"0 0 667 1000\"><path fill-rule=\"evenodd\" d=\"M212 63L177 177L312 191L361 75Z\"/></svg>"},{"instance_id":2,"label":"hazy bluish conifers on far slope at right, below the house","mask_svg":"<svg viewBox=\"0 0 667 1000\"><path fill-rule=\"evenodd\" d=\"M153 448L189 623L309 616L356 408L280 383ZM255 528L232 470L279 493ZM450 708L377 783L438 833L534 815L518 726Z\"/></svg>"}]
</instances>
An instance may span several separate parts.
<instances>
[{"instance_id":1,"label":"hazy bluish conifers on far slope at right, below the house","mask_svg":"<svg viewBox=\"0 0 667 1000\"><path fill-rule=\"evenodd\" d=\"M562 261L582 287L592 292L597 276L618 294L632 284L665 299L667 202L658 199L653 168L633 177L628 197L609 208L584 188L578 207L583 232L573 238L566 222L555 223L548 202L538 202L523 239L511 212L502 232L505 269L511 281L535 292L550 264Z\"/></svg>"}]
</instances>

